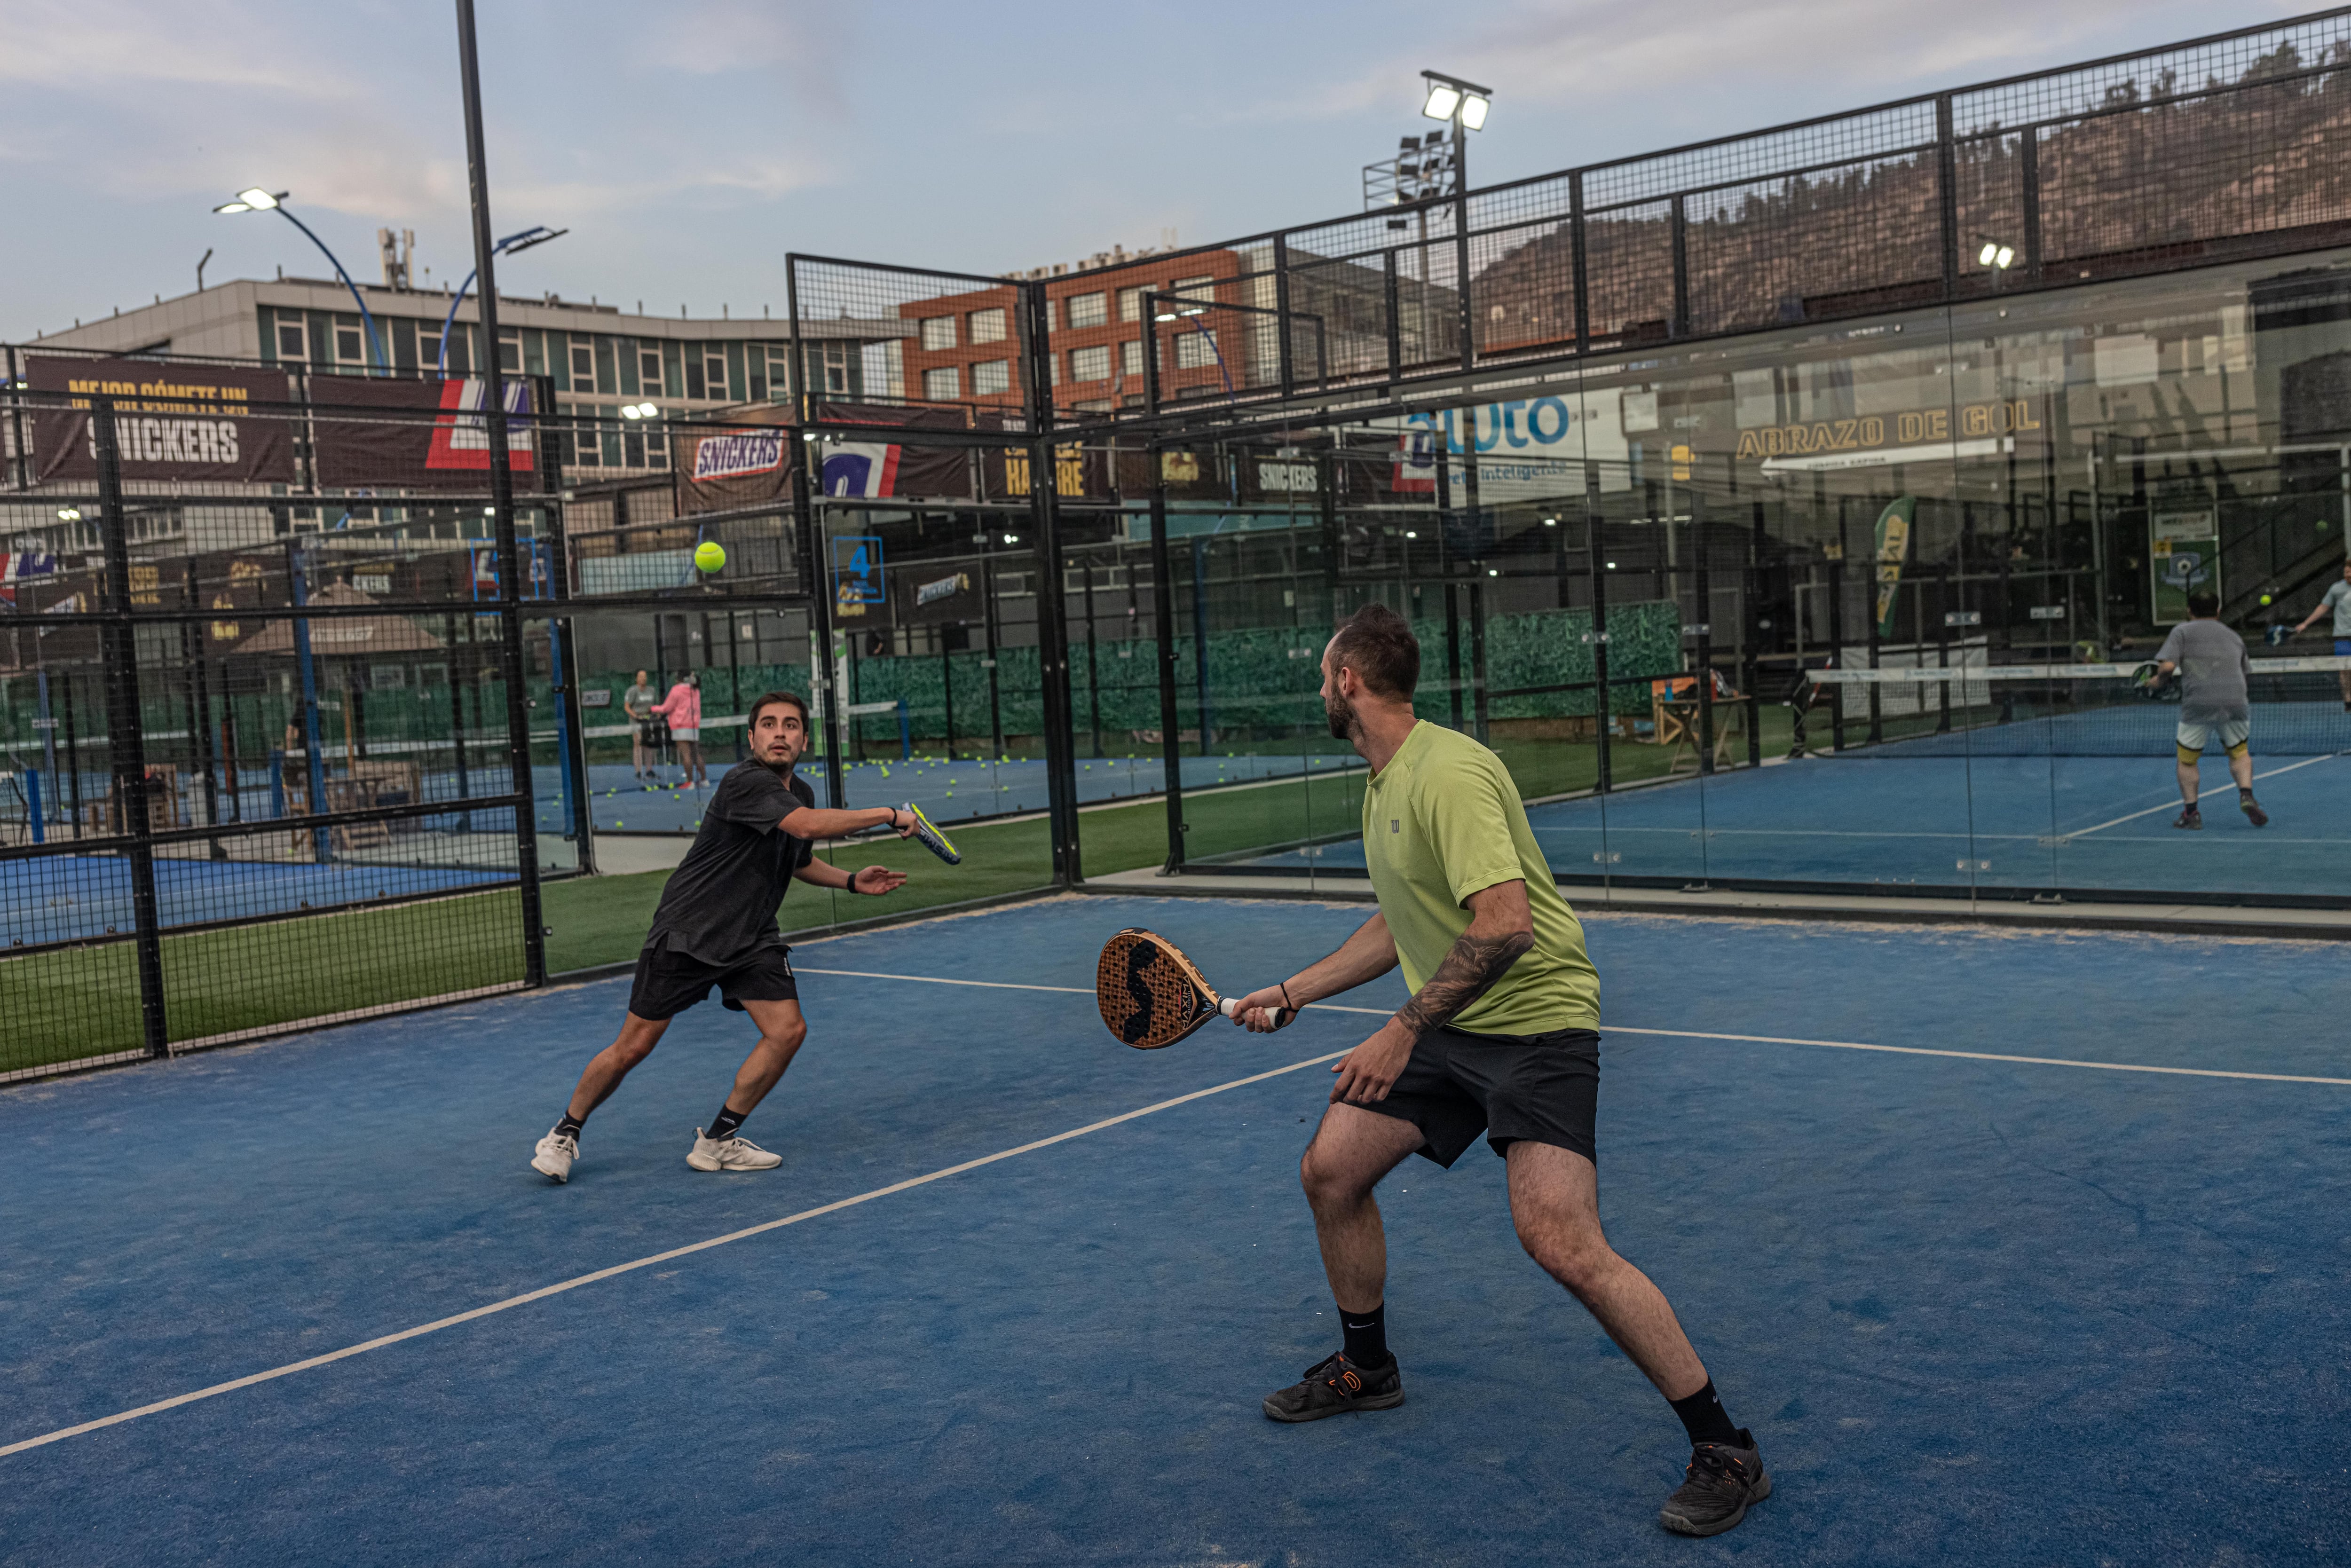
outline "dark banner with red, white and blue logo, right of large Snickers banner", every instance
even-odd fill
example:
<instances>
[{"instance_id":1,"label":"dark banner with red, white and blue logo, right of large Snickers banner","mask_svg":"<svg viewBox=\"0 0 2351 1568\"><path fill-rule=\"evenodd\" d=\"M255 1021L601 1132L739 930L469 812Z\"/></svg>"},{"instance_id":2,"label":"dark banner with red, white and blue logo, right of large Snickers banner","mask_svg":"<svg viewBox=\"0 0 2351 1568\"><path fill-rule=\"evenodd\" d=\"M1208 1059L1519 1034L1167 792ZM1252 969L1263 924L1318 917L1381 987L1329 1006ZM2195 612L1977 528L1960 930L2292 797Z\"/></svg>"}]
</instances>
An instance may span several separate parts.
<instances>
[{"instance_id":1,"label":"dark banner with red, white and blue logo, right of large Snickers banner","mask_svg":"<svg viewBox=\"0 0 2351 1568\"><path fill-rule=\"evenodd\" d=\"M390 381L381 376L313 376L310 404L317 482L324 487L397 484L402 489L489 491L489 381ZM339 414L350 409L350 414ZM367 418L360 409L433 411L435 418ZM531 383L505 383L505 451L515 489L538 465Z\"/></svg>"}]
</instances>

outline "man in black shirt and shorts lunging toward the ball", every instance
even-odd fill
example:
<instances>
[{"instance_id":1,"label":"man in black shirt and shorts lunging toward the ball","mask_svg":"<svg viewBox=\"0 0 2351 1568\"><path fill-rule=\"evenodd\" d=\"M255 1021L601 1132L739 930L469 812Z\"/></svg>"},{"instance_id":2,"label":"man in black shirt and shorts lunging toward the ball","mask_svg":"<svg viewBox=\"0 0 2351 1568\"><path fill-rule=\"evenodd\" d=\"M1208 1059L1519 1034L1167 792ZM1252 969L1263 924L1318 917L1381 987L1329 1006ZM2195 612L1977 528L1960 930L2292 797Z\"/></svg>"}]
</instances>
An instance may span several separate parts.
<instances>
[{"instance_id":1,"label":"man in black shirt and shorts lunging toward the ball","mask_svg":"<svg viewBox=\"0 0 2351 1568\"><path fill-rule=\"evenodd\" d=\"M686 1164L696 1171L769 1171L783 1164L781 1154L736 1135L809 1037L776 910L792 877L877 898L893 893L905 884L905 872L886 865L844 872L818 860L813 846L860 827L889 825L900 839L915 832L915 816L905 809L820 811L816 792L792 778L792 764L806 748L806 703L790 691L769 691L750 705L750 762L719 778L694 849L661 891L654 929L637 954L637 983L628 994L621 1037L588 1063L564 1119L538 1140L534 1171L571 1180L588 1112L621 1086L630 1067L651 1056L670 1018L705 999L712 985L729 1009L750 1013L759 1025L759 1044L736 1072L734 1091L710 1131L694 1128Z\"/></svg>"}]
</instances>

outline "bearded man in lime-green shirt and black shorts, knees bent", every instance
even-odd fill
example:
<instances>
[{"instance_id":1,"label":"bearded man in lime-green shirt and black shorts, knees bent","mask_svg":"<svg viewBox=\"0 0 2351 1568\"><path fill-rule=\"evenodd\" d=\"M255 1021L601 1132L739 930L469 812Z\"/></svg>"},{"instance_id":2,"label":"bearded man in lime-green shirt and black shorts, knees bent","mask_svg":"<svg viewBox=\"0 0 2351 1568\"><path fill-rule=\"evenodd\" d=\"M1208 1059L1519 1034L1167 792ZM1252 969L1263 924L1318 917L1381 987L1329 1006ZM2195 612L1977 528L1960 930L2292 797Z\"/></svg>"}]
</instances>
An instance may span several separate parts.
<instances>
[{"instance_id":1,"label":"bearded man in lime-green shirt and black shorts, knees bent","mask_svg":"<svg viewBox=\"0 0 2351 1568\"><path fill-rule=\"evenodd\" d=\"M1519 1244L1599 1319L1674 1406L1690 1467L1657 1521L1721 1535L1770 1495L1754 1436L1730 1425L1665 1293L1601 1234L1594 1168L1599 973L1502 759L1413 717L1420 644L1385 604L1324 649L1331 733L1371 764L1364 858L1380 912L1305 971L1255 990L1234 1023L1272 1030L1404 966L1413 999L1333 1072L1298 1166L1345 1347L1265 1399L1284 1422L1404 1403L1387 1352L1387 1237L1371 1192L1406 1154L1451 1166L1486 1133L1509 1166Z\"/></svg>"}]
</instances>

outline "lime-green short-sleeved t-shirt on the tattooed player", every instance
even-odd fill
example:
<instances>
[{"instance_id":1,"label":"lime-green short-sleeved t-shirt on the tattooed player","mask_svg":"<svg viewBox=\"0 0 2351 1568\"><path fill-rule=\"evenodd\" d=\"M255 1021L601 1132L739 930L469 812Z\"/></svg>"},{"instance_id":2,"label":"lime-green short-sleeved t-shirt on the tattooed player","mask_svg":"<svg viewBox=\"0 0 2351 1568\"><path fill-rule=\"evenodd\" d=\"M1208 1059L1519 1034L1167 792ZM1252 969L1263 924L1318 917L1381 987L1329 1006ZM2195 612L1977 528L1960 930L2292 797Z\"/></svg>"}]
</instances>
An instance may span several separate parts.
<instances>
[{"instance_id":1,"label":"lime-green short-sleeved t-shirt on the tattooed player","mask_svg":"<svg viewBox=\"0 0 2351 1568\"><path fill-rule=\"evenodd\" d=\"M1415 992L1469 929L1467 898L1526 882L1535 945L1453 1020L1472 1034L1601 1027L1601 978L1585 929L1552 882L1502 759L1439 724L1413 724L1364 788L1364 860Z\"/></svg>"}]
</instances>

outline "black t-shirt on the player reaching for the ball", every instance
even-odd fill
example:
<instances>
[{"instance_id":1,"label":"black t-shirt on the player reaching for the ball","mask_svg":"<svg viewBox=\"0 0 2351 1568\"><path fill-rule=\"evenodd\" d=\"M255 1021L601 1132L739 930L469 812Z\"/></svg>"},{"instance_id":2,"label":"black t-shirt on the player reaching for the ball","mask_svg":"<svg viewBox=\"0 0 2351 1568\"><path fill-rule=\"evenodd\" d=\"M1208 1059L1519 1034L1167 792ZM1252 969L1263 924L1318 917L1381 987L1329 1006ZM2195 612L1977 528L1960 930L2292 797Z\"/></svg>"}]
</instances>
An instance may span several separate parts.
<instances>
[{"instance_id":1,"label":"black t-shirt on the player reaching for the ball","mask_svg":"<svg viewBox=\"0 0 2351 1568\"><path fill-rule=\"evenodd\" d=\"M816 849L778 832L776 823L813 804L816 790L771 766L738 762L726 769L694 849L661 889L647 945L668 938L670 952L703 964L738 964L759 947L781 945L776 910L792 872L813 860Z\"/></svg>"}]
</instances>

